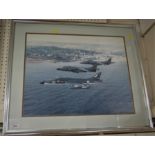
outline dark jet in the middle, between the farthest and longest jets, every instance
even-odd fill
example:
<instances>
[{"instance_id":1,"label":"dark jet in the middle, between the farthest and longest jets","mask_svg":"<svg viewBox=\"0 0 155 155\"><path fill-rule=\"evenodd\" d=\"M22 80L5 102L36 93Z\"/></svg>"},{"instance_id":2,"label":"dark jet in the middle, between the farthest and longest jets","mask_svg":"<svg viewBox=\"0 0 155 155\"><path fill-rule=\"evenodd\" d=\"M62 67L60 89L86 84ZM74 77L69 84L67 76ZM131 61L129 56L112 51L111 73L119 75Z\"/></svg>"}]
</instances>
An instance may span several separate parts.
<instances>
[{"instance_id":1,"label":"dark jet in the middle, between the farthest and longest jets","mask_svg":"<svg viewBox=\"0 0 155 155\"><path fill-rule=\"evenodd\" d=\"M97 65L93 65L92 67L73 67L73 66L64 66L62 68L57 68L57 70L60 71L68 71L68 72L73 72L73 73L80 73L80 72L96 72L97 70Z\"/></svg>"}]
</instances>

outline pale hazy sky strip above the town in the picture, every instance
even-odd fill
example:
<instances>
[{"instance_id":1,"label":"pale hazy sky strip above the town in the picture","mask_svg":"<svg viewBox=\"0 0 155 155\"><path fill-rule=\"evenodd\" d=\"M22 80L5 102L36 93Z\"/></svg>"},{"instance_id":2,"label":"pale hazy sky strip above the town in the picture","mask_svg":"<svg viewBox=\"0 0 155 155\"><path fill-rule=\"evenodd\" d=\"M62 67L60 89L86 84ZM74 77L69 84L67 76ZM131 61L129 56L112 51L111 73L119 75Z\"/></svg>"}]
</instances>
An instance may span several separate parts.
<instances>
[{"instance_id":1,"label":"pale hazy sky strip above the town in the picture","mask_svg":"<svg viewBox=\"0 0 155 155\"><path fill-rule=\"evenodd\" d=\"M27 34L27 46L58 46L62 48L95 50L96 52L125 50L122 37L104 36Z\"/></svg>"}]
</instances>

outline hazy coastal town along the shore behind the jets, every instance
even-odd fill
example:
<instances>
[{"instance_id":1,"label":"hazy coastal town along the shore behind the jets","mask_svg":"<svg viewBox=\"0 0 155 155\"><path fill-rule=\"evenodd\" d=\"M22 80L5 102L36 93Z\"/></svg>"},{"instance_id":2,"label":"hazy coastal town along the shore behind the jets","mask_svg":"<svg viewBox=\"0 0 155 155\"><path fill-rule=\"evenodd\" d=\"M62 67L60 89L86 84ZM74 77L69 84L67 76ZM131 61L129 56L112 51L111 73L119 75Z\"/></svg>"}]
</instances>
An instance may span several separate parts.
<instances>
[{"instance_id":1,"label":"hazy coastal town along the shore behind the jets","mask_svg":"<svg viewBox=\"0 0 155 155\"><path fill-rule=\"evenodd\" d=\"M74 49L74 48L61 48L57 46L34 46L28 47L26 57L35 60L53 60L55 62L72 62L79 61L85 58L92 58L101 54L100 52Z\"/></svg>"}]
</instances>

